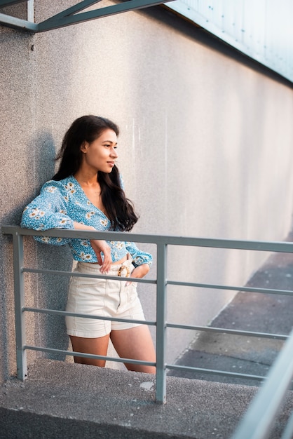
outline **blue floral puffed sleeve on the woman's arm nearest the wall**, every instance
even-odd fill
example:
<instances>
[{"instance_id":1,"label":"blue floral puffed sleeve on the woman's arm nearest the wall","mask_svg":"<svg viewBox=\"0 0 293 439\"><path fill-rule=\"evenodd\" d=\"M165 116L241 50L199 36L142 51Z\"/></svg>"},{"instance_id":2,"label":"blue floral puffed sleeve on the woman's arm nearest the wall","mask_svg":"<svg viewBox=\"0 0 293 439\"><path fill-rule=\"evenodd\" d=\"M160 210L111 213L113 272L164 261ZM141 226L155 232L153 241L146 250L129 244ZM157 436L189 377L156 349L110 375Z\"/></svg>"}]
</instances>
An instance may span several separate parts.
<instances>
[{"instance_id":1,"label":"blue floral puffed sleeve on the woman's arm nearest the wall","mask_svg":"<svg viewBox=\"0 0 293 439\"><path fill-rule=\"evenodd\" d=\"M50 180L43 185L39 196L27 205L22 213L21 227L33 230L74 229L73 220L67 215L68 195L61 182ZM65 245L70 238L35 236L36 241Z\"/></svg>"}]
</instances>

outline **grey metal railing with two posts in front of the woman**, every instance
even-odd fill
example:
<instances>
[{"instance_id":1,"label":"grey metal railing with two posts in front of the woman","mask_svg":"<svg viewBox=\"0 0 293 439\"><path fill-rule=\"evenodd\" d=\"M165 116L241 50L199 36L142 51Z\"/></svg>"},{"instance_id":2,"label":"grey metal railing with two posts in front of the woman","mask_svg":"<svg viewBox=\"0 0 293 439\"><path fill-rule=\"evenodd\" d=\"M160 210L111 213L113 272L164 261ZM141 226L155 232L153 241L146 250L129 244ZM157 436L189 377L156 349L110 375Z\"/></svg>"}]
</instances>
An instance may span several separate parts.
<instances>
[{"instance_id":1,"label":"grey metal railing with two posts in front of the woman","mask_svg":"<svg viewBox=\"0 0 293 439\"><path fill-rule=\"evenodd\" d=\"M232 335L245 335L251 337L266 337L273 339L288 339L287 335L278 334L267 334L263 332L249 332L241 330L231 330L226 328L218 327L205 327L196 325L177 325L175 323L169 323L166 316L166 289L167 285L182 285L198 288L212 288L217 290L235 290L235 291L250 291L259 293L270 293L275 295L293 295L292 290L275 290L268 288L250 288L250 287L235 287L230 285L213 285L207 283L190 283L183 281L169 281L167 276L167 260L168 260L168 245L183 245L192 246L200 248L222 248L222 249L238 249L238 250L257 250L264 252L293 252L293 243L289 242L264 242L264 241L236 241L236 240L224 240L224 239L211 239L211 238L190 238L190 237L179 237L179 236L158 236L158 235L143 235L143 234L130 234L131 240L138 243L151 243L156 244L157 248L157 277L156 280L149 279L136 279L138 283L152 283L156 284L156 321L140 321L135 320L137 323L142 323L144 325L155 325L156 326L156 363L147 363L139 360L132 360L126 358L109 358L107 356L95 356L79 352L64 351L61 349L49 349L40 346L29 346L26 344L25 340L25 312L34 313L48 313L57 314L62 316L82 316L87 318L101 318L99 316L87 316L84 314L69 313L67 311L59 311L55 309L38 309L25 306L25 285L24 285L24 273L49 273L55 274L57 276L84 276L84 277L96 277L103 278L104 276L93 276L81 273L72 273L71 271L58 271L58 270L48 270L48 269L32 269L24 266L23 257L23 236L50 236L50 237L60 237L60 238L81 238L81 239L106 239L113 241L125 241L125 234L122 232L100 232L100 231L78 231L78 230L66 230L66 229L51 229L48 231L32 231L29 229L22 229L18 226L2 226L3 234L10 234L13 236L13 265L14 265L14 289L15 289L15 332L16 332L16 353L17 353L17 367L18 367L18 378L25 379L27 374L27 358L26 351L31 349L35 351L44 351L50 353L64 353L65 355L78 355L90 358L100 358L110 361L127 363L136 363L143 365L156 365L156 402L165 403L166 400L166 371L167 370L187 370L202 372L205 374L219 374L228 377L236 378L247 378L264 380L266 377L260 377L251 374L240 374L236 372L224 372L221 370L209 370L198 367L186 367L182 365L168 364L165 361L166 358L166 330L168 327L181 328L184 330L198 330L198 331L209 331L209 332L224 332ZM128 238L129 239L129 238ZM119 279L116 276L109 276L109 278ZM103 319L105 319L103 317ZM126 319L109 318L109 320L116 321L129 321ZM292 352L293 340L289 339L289 348L285 347L284 351L281 352L280 356L282 358L289 357L289 353ZM278 366L278 374L280 374L281 369L285 367L286 360L280 360L282 365ZM292 378L293 374L293 363L292 357L290 361L287 361L287 374L286 374L286 385L280 387L280 397L275 405L279 405L280 400L284 398L287 389L287 384ZM285 373L281 372L281 375ZM279 375L279 377L281 376ZM275 386L275 372L273 372L273 384ZM271 380L270 380L271 381ZM279 384L278 384L279 386ZM275 389L273 387L273 389ZM275 390L273 390L275 392ZM266 396L264 397L266 398ZM274 398L275 399L275 398ZM262 403L266 399L261 400ZM277 401L277 400L275 400ZM269 412L270 419L274 417L277 413L277 407ZM264 417L267 413L264 414ZM257 417L258 421L261 421L261 417ZM247 437L247 436L246 436ZM251 438L254 436L251 435ZM265 435L255 436L257 439L265 438ZM240 433L235 436L235 439L242 439Z\"/></svg>"}]
</instances>

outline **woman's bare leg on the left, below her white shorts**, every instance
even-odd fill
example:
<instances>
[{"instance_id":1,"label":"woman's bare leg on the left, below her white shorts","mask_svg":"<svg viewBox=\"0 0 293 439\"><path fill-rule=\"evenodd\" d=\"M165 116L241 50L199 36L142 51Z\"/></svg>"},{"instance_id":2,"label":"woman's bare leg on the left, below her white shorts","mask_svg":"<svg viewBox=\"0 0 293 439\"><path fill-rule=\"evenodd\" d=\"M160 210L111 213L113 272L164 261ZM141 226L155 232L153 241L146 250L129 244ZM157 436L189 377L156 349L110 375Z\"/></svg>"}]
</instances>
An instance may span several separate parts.
<instances>
[{"instance_id":1,"label":"woman's bare leg on the left, below her white shorts","mask_svg":"<svg viewBox=\"0 0 293 439\"><path fill-rule=\"evenodd\" d=\"M94 339L70 336L72 348L76 352L93 353L94 355L107 356L109 334ZM74 357L75 363L104 367L106 360L86 357Z\"/></svg>"}]
</instances>

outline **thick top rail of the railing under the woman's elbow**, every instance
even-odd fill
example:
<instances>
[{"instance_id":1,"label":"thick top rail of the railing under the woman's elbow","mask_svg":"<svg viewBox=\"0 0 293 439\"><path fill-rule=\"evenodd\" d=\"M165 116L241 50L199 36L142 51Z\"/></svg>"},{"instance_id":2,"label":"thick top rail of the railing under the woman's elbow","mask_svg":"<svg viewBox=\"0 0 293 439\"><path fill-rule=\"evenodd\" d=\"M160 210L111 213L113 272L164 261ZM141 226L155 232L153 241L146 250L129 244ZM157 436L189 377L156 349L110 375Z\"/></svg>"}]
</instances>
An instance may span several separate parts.
<instances>
[{"instance_id":1,"label":"thick top rail of the railing under the woman's elbow","mask_svg":"<svg viewBox=\"0 0 293 439\"><path fill-rule=\"evenodd\" d=\"M167 245L184 245L189 247L209 247L209 248L228 248L234 250L256 250L264 252L284 252L293 253L293 243L291 242L266 242L266 241L241 241L233 239L214 239L196 238L189 236L164 236L151 234L132 234L121 231L86 231L76 229L50 229L36 231L32 229L22 229L20 226L1 227L4 234L19 234L23 236L51 236L55 238L81 238L81 239L106 239L107 241L125 241L125 236L129 236L128 241L139 243L161 243Z\"/></svg>"}]
</instances>

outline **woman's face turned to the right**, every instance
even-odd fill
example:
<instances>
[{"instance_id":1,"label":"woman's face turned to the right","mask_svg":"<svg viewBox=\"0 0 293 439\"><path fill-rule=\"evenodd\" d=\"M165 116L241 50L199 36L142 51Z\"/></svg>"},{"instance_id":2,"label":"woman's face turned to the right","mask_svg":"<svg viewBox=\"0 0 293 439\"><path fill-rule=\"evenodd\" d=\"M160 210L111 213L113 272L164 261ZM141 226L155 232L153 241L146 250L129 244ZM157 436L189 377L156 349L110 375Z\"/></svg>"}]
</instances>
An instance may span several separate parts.
<instances>
[{"instance_id":1,"label":"woman's face turned to the right","mask_svg":"<svg viewBox=\"0 0 293 439\"><path fill-rule=\"evenodd\" d=\"M117 135L113 130L107 128L96 140L91 143L84 142L81 146L83 166L92 168L95 172L111 173L118 157L116 148Z\"/></svg>"}]
</instances>

